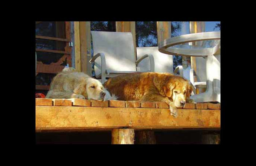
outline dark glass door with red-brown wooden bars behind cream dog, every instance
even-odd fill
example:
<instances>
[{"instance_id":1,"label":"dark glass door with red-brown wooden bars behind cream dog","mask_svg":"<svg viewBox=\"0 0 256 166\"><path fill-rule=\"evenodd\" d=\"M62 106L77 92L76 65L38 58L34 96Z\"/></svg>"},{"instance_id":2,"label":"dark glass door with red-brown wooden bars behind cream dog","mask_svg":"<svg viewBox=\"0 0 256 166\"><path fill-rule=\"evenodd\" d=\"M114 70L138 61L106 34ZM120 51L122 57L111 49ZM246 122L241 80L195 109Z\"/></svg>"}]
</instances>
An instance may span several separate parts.
<instances>
[{"instance_id":1,"label":"dark glass door with red-brown wooden bars behind cream dog","mask_svg":"<svg viewBox=\"0 0 256 166\"><path fill-rule=\"evenodd\" d=\"M36 22L36 93L47 94L53 77L71 67L70 22Z\"/></svg>"}]
</instances>

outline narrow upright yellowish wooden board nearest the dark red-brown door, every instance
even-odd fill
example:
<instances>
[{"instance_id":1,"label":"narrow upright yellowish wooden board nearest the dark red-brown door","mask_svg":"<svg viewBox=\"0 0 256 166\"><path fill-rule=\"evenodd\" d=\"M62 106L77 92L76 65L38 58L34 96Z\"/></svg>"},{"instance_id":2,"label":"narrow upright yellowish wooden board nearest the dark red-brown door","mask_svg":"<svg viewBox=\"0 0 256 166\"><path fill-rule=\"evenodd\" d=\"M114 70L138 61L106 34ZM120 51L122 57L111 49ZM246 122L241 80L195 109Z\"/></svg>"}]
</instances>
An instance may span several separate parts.
<instances>
[{"instance_id":1,"label":"narrow upright yellowish wooden board nearest the dark red-brown door","mask_svg":"<svg viewBox=\"0 0 256 166\"><path fill-rule=\"evenodd\" d=\"M80 26L79 21L74 21L75 34L75 66L76 71L81 72Z\"/></svg>"}]
</instances>

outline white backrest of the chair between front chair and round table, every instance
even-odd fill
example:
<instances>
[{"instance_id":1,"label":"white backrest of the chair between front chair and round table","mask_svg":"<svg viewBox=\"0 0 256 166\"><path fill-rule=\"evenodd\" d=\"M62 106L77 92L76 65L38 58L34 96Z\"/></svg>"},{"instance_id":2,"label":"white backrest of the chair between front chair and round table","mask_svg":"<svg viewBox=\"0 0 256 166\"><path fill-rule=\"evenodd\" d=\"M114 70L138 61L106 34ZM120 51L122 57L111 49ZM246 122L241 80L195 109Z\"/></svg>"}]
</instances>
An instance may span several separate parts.
<instances>
[{"instance_id":1,"label":"white backrest of the chair between front chair and round table","mask_svg":"<svg viewBox=\"0 0 256 166\"><path fill-rule=\"evenodd\" d=\"M173 73L172 55L163 54L158 47L137 47L137 59L145 54L152 54L155 61L155 72ZM138 71L149 71L149 59L145 58L138 64Z\"/></svg>"}]
</instances>

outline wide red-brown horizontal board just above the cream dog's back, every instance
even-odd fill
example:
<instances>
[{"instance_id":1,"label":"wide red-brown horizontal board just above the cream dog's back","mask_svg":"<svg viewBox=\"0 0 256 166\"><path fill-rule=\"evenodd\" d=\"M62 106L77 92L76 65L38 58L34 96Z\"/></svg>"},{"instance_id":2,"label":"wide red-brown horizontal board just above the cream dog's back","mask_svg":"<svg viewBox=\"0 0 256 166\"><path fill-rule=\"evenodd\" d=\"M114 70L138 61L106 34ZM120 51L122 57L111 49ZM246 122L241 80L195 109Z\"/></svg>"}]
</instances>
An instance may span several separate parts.
<instances>
[{"instance_id":1,"label":"wide red-brown horizontal board just above the cream dog's back","mask_svg":"<svg viewBox=\"0 0 256 166\"><path fill-rule=\"evenodd\" d=\"M64 69L65 66L51 65L51 64L36 64L36 72L39 73L58 73Z\"/></svg>"}]
</instances>

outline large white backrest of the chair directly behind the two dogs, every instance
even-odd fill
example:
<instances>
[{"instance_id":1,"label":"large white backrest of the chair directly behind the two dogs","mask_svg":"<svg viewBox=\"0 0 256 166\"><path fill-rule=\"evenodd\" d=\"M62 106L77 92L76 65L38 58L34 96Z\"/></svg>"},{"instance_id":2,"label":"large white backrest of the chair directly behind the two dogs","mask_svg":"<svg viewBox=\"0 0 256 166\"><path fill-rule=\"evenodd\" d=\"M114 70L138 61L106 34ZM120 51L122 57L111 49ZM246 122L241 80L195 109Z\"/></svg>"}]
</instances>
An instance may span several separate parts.
<instances>
[{"instance_id":1,"label":"large white backrest of the chair directly behind the two dogs","mask_svg":"<svg viewBox=\"0 0 256 166\"><path fill-rule=\"evenodd\" d=\"M104 53L111 71L136 71L132 33L91 31L93 55ZM101 73L101 59L95 60L96 76Z\"/></svg>"}]
</instances>

